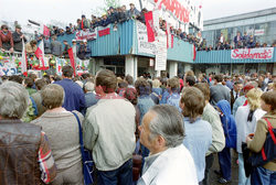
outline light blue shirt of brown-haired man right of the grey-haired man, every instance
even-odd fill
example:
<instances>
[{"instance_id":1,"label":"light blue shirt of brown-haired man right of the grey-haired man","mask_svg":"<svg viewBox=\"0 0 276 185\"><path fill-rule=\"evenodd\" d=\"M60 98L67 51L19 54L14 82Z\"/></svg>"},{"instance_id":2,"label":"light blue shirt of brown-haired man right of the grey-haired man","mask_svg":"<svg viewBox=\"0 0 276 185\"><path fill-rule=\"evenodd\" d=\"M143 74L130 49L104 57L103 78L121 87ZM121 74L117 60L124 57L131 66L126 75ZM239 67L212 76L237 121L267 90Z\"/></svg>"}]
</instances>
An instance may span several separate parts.
<instances>
[{"instance_id":1,"label":"light blue shirt of brown-haired man right of the grey-haired man","mask_svg":"<svg viewBox=\"0 0 276 185\"><path fill-rule=\"evenodd\" d=\"M204 178L205 154L212 143L212 127L201 118L194 122L190 122L187 117L183 120L185 130L183 144L193 157L198 181L201 182Z\"/></svg>"}]
</instances>

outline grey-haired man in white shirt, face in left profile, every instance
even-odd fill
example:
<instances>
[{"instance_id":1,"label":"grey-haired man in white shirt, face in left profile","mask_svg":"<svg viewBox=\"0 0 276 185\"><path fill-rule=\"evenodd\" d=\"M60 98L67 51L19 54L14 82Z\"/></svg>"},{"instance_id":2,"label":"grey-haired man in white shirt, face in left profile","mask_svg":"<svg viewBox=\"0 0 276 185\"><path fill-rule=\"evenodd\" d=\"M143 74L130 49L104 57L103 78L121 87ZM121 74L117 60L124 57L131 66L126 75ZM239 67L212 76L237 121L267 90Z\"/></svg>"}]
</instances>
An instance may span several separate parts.
<instances>
[{"instance_id":1,"label":"grey-haired man in white shirt, face in left profile","mask_svg":"<svg viewBox=\"0 0 276 185\"><path fill-rule=\"evenodd\" d=\"M182 144L183 126L183 117L173 106L155 106L145 115L140 142L150 155L138 185L198 185L193 159Z\"/></svg>"}]
</instances>

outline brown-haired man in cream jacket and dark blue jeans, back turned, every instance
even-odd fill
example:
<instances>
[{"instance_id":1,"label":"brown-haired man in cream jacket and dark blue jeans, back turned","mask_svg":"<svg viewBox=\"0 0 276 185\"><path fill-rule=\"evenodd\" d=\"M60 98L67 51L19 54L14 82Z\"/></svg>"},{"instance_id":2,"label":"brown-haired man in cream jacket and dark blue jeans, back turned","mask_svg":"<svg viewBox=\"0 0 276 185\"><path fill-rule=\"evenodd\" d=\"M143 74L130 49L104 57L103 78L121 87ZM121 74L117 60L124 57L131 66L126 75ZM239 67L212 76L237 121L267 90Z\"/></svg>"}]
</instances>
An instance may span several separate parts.
<instances>
[{"instance_id":1,"label":"brown-haired man in cream jacket and dark blue jeans, back turned","mask_svg":"<svg viewBox=\"0 0 276 185\"><path fill-rule=\"evenodd\" d=\"M135 151L135 107L115 92L117 78L112 70L97 73L95 91L99 100L88 108L84 121L84 145L93 151L98 184L132 184Z\"/></svg>"}]
</instances>

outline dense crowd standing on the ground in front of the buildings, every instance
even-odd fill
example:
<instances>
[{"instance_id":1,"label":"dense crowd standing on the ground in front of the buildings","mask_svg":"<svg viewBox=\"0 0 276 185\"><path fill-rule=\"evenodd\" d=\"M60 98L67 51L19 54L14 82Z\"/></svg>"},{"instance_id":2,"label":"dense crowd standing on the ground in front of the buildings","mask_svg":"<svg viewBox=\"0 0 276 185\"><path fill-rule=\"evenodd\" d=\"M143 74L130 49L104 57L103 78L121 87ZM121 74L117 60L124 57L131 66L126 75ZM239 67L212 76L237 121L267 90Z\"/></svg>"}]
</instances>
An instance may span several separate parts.
<instances>
[{"instance_id":1,"label":"dense crowd standing on the ground in front of the buildings","mask_svg":"<svg viewBox=\"0 0 276 185\"><path fill-rule=\"evenodd\" d=\"M73 77L64 66L62 73L1 77L0 184L83 184L78 120L99 185L210 184L216 154L217 181L226 184L232 150L238 184L276 183L275 159L253 166L248 178L242 149L245 143L262 155L265 143L275 148L266 137L268 122L276 129L276 77L269 73L195 77L189 70L136 81L108 69ZM134 153L142 156L137 179Z\"/></svg>"}]
</instances>

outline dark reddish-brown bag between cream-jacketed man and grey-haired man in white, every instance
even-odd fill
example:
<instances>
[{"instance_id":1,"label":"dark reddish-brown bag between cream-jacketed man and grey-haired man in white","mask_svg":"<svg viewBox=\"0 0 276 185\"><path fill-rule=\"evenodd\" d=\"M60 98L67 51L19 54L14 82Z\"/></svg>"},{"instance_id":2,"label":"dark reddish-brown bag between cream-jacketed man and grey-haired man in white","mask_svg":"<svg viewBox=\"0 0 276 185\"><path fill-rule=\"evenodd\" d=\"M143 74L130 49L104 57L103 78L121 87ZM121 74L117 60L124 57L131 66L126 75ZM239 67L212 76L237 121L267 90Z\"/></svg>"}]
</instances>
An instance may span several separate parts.
<instances>
[{"instance_id":1,"label":"dark reddish-brown bag between cream-jacketed man and grey-haired man in white","mask_svg":"<svg viewBox=\"0 0 276 185\"><path fill-rule=\"evenodd\" d=\"M137 141L138 143L139 141ZM141 174L141 164L142 164L142 156L140 154L140 143L139 150L132 154L132 181L136 182L139 179Z\"/></svg>"}]
</instances>

